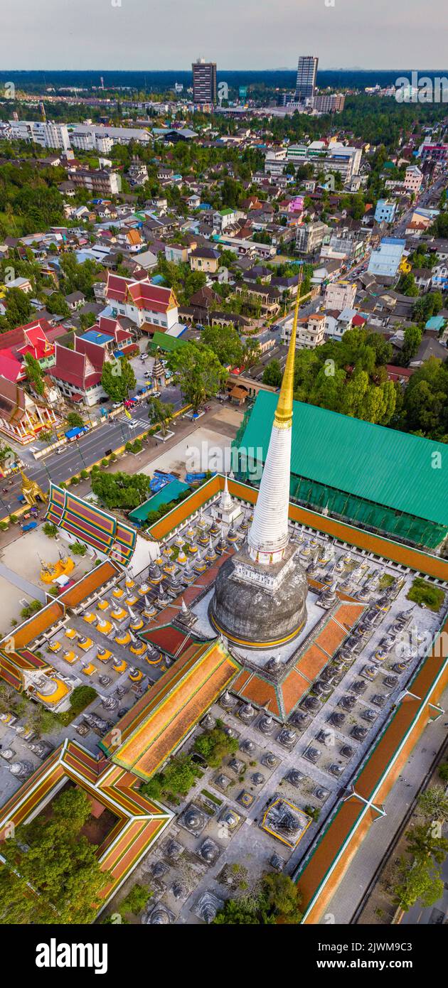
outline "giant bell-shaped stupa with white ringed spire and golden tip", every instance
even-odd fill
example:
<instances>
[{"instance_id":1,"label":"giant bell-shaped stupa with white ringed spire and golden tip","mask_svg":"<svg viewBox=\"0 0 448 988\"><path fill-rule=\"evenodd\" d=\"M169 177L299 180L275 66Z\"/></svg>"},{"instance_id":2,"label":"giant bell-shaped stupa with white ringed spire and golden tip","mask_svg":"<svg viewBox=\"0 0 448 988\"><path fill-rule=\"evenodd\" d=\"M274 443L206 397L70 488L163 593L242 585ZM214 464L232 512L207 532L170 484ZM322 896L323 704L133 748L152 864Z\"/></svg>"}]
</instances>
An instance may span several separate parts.
<instances>
[{"instance_id":1,"label":"giant bell-shaped stupa with white ringed spire and golden tip","mask_svg":"<svg viewBox=\"0 0 448 988\"><path fill-rule=\"evenodd\" d=\"M307 617L307 577L299 562L298 547L290 541L288 526L299 298L298 292L285 373L252 524L240 551L230 556L220 569L209 610L214 627L229 641L246 648L270 648L291 641ZM231 507L225 487L222 502L226 497Z\"/></svg>"}]
</instances>

